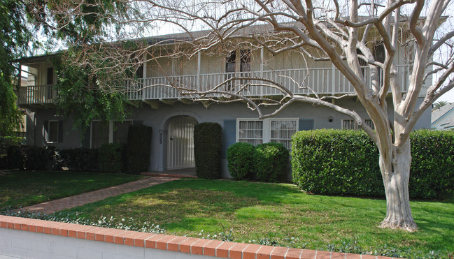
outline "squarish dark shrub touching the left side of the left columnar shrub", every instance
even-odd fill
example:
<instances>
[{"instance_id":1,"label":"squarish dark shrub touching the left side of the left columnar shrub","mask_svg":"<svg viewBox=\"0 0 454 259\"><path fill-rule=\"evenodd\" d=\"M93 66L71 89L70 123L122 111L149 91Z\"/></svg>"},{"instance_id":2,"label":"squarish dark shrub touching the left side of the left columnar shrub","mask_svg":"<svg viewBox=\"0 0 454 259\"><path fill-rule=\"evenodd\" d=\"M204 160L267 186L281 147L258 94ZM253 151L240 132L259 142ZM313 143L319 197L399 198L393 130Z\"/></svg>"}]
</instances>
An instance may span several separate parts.
<instances>
[{"instance_id":1,"label":"squarish dark shrub touching the left side of the left columnar shrub","mask_svg":"<svg viewBox=\"0 0 454 259\"><path fill-rule=\"evenodd\" d=\"M98 163L101 172L125 172L126 145L108 143L99 147Z\"/></svg>"}]
</instances>

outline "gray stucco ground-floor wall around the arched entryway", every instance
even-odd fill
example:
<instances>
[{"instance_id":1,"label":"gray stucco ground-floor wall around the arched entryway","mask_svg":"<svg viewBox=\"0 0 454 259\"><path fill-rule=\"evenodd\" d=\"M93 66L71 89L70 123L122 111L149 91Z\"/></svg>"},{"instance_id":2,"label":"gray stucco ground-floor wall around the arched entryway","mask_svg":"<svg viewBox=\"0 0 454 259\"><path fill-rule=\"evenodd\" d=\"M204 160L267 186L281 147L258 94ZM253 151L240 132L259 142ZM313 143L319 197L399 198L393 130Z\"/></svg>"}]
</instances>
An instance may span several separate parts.
<instances>
[{"instance_id":1,"label":"gray stucco ground-floor wall around the arched entryway","mask_svg":"<svg viewBox=\"0 0 454 259\"><path fill-rule=\"evenodd\" d=\"M390 101L390 100L389 100ZM422 101L422 99L420 100ZM344 108L355 110L362 117L368 118L367 113L359 101L354 98L336 101L337 105L341 105ZM391 103L388 103L388 107L392 107ZM34 145L42 147L46 145L43 140L43 122L48 120L59 120L63 121L62 117L55 116L54 109L43 109L36 110L36 112L29 113L27 118L32 123L29 126L27 121L27 145ZM134 108L132 116L128 119L141 120L144 125L152 127L152 149L150 159L150 171L161 171L166 170L166 127L168 121L175 116L192 116L200 122L217 122L221 126L224 124L225 119L236 119L236 118L257 118L257 112L247 108L244 103L233 103L229 105L225 104L213 104L208 108L200 103L196 104L184 104L176 102L174 105L166 105L159 103L157 109L153 109L150 105L143 103L140 108ZM34 117L33 117L34 116ZM389 112L390 118L392 118L392 112ZM287 109L279 113L277 118L298 118L298 119L313 119L313 125L315 129L318 128L341 128L342 119L350 119L346 115L335 112L329 108L318 107L308 103L293 103ZM333 120L330 122L329 117ZM418 128L430 128L430 110L427 110L421 117L415 129ZM57 149L67 149L74 147L81 147L80 135L78 131L73 129L72 119L64 121L63 125L64 133L62 134L63 141L61 143L52 143ZM87 139L88 138L88 139ZM90 135L85 137L85 147L89 142ZM227 161L223 159L223 176L229 177L227 172Z\"/></svg>"}]
</instances>

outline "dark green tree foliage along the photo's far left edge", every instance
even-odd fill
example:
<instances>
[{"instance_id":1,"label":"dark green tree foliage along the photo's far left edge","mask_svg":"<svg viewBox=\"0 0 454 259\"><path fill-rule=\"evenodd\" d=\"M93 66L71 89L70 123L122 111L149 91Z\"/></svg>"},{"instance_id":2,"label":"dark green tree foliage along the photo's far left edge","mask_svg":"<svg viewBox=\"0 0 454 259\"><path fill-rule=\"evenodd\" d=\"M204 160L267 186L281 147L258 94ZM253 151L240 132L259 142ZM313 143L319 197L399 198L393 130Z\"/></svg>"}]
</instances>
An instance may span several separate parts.
<instances>
[{"instance_id":1,"label":"dark green tree foliage along the photo's far left edge","mask_svg":"<svg viewBox=\"0 0 454 259\"><path fill-rule=\"evenodd\" d=\"M0 3L0 136L10 135L21 126L22 112L17 109L13 91L17 70L13 60L27 53L32 34L24 15L24 2L3 0Z\"/></svg>"}]
</instances>

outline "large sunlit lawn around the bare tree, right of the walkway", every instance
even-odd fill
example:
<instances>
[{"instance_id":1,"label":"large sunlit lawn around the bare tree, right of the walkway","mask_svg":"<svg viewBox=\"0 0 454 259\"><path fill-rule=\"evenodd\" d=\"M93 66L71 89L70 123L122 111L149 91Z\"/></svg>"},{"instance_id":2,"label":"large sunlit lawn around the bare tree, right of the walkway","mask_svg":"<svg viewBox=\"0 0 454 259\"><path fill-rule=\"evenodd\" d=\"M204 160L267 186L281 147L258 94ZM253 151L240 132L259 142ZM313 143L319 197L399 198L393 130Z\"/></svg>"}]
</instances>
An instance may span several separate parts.
<instances>
[{"instance_id":1,"label":"large sunlit lawn around the bare tree, right of the walkway","mask_svg":"<svg viewBox=\"0 0 454 259\"><path fill-rule=\"evenodd\" d=\"M453 200L411 202L417 232L378 228L385 207L385 200L308 195L290 184L181 179L64 213L80 212L92 220L133 217L136 223L150 221L169 234L190 237L232 230L236 242L269 238L307 249L356 242L366 251L382 245L454 251Z\"/></svg>"}]
</instances>

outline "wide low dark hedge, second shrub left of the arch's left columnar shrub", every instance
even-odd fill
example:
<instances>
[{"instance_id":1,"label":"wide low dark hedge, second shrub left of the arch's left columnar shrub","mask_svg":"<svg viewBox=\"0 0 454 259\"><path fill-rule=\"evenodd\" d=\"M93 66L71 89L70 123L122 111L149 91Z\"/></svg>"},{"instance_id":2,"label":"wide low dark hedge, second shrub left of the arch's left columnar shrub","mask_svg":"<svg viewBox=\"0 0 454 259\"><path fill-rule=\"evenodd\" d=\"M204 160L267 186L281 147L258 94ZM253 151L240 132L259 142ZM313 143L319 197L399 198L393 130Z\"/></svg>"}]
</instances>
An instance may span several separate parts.
<instances>
[{"instance_id":1,"label":"wide low dark hedge, second shrub left of the arch's left columnar shrub","mask_svg":"<svg viewBox=\"0 0 454 259\"><path fill-rule=\"evenodd\" d=\"M62 165L72 171L97 171L99 149L63 149L59 151Z\"/></svg>"}]
</instances>

